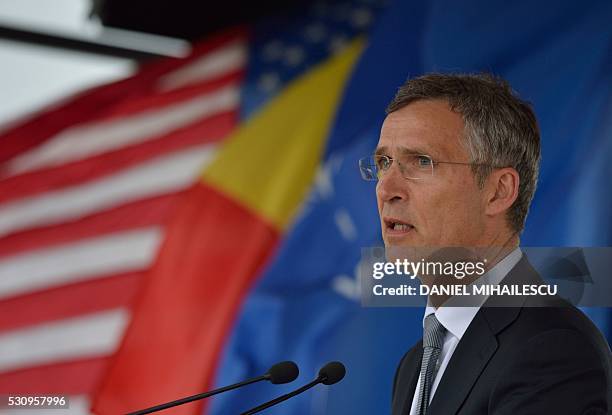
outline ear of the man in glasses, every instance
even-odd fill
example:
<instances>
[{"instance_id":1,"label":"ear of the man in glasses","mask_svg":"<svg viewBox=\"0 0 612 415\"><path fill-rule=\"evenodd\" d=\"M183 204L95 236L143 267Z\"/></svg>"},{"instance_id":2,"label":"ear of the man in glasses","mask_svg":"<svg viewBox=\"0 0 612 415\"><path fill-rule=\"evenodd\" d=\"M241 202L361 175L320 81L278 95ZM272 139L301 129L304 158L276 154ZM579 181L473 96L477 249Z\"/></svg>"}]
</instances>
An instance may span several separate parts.
<instances>
[{"instance_id":1,"label":"ear of the man in glasses","mask_svg":"<svg viewBox=\"0 0 612 415\"><path fill-rule=\"evenodd\" d=\"M485 184L485 214L496 216L510 209L518 197L519 184L519 174L512 167L493 170Z\"/></svg>"}]
</instances>

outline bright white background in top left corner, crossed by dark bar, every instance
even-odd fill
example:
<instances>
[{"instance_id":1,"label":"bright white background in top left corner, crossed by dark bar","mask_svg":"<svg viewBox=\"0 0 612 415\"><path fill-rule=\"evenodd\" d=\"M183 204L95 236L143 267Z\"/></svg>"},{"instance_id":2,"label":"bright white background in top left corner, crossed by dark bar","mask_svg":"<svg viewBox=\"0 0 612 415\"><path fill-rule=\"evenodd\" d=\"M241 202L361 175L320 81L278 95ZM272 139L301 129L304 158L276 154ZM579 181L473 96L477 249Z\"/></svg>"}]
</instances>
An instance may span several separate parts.
<instances>
[{"instance_id":1,"label":"bright white background in top left corner, crossed by dark bar","mask_svg":"<svg viewBox=\"0 0 612 415\"><path fill-rule=\"evenodd\" d=\"M1 0L0 25L82 35L90 0ZM84 88L123 78L134 61L0 39L0 130Z\"/></svg>"}]
</instances>

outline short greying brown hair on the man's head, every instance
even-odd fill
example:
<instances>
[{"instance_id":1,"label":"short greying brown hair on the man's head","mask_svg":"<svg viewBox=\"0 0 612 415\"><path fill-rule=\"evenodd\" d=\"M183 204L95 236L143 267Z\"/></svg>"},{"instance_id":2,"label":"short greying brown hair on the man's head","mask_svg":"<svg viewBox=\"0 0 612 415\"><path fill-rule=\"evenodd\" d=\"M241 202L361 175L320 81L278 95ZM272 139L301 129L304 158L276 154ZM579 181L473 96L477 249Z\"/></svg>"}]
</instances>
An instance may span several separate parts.
<instances>
[{"instance_id":1,"label":"short greying brown hair on the man's head","mask_svg":"<svg viewBox=\"0 0 612 415\"><path fill-rule=\"evenodd\" d=\"M507 219L513 230L521 232L540 165L540 131L531 105L493 75L432 73L406 81L387 114L427 99L444 99L462 116L464 145L480 188L494 168L512 167L518 172L518 197Z\"/></svg>"}]
</instances>

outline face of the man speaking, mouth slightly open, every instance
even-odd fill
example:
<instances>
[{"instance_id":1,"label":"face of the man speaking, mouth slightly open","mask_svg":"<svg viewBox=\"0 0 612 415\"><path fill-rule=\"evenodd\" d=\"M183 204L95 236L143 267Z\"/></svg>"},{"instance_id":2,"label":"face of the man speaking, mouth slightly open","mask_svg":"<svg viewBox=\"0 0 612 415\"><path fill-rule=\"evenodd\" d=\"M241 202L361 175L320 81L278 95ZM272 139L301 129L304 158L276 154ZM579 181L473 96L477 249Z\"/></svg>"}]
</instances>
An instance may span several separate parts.
<instances>
[{"instance_id":1,"label":"face of the man speaking, mouth slightly open","mask_svg":"<svg viewBox=\"0 0 612 415\"><path fill-rule=\"evenodd\" d=\"M469 163L463 136L461 116L445 101L416 101L387 116L377 152ZM484 197L470 166L435 164L433 176L414 180L402 177L394 161L377 183L376 198L387 247L471 247L485 242Z\"/></svg>"}]
</instances>

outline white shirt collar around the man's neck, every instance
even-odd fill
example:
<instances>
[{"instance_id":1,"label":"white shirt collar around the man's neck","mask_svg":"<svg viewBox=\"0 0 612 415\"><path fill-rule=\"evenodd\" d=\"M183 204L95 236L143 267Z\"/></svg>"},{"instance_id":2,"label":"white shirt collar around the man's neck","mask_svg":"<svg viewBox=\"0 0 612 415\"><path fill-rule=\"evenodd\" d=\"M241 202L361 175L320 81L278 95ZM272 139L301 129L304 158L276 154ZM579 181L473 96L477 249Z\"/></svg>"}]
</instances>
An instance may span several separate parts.
<instances>
[{"instance_id":1,"label":"white shirt collar around the man's neck","mask_svg":"<svg viewBox=\"0 0 612 415\"><path fill-rule=\"evenodd\" d=\"M519 247L515 248L512 252L499 261L493 268L487 271L482 277L474 281L474 284L493 284L498 285L506 275L515 267L520 261L523 253ZM427 300L427 307L425 307L425 315L423 316L423 327L425 327L425 318L430 314L435 314L438 321L450 332L453 336L459 340L465 334L470 323L480 310L478 307L439 307L436 309L433 307L429 299Z\"/></svg>"}]
</instances>

